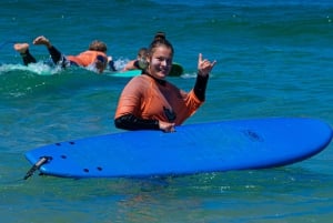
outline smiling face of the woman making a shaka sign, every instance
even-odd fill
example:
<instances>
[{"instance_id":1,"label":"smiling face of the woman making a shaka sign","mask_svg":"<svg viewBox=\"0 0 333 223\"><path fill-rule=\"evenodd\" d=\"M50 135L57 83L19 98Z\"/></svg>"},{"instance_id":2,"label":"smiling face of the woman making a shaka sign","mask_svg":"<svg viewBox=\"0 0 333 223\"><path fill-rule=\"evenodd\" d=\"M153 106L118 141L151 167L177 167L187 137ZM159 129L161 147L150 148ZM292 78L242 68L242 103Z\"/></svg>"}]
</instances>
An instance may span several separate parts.
<instances>
[{"instance_id":1,"label":"smiling face of the woman making a shaka sign","mask_svg":"<svg viewBox=\"0 0 333 223\"><path fill-rule=\"evenodd\" d=\"M157 79L164 79L172 67L172 50L167 45L154 48L149 61L149 73Z\"/></svg>"}]
</instances>

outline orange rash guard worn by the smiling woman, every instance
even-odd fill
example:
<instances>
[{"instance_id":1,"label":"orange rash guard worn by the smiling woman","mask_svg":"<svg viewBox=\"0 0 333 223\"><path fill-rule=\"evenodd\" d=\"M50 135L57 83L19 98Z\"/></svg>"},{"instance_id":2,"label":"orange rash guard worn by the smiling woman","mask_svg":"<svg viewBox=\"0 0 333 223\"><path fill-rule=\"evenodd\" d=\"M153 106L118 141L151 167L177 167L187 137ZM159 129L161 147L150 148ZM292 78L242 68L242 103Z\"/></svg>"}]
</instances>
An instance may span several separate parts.
<instances>
[{"instance_id":1,"label":"orange rash guard worn by the smiling woman","mask_svg":"<svg viewBox=\"0 0 333 223\"><path fill-rule=\"evenodd\" d=\"M140 119L182 124L203 102L193 90L186 93L167 81L164 83L145 74L133 78L120 95L114 119L133 114Z\"/></svg>"}]
</instances>

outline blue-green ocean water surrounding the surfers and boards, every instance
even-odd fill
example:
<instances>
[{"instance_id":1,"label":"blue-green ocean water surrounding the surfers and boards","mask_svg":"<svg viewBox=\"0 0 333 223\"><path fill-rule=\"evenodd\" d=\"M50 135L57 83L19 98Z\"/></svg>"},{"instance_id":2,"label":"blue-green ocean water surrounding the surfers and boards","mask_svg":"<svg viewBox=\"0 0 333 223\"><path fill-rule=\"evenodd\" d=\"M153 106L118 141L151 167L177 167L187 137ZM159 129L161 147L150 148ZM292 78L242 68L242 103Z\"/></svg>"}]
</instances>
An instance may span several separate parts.
<instances>
[{"instance_id":1,"label":"blue-green ocean water surrounding the surfers and boards","mask_svg":"<svg viewBox=\"0 0 333 223\"><path fill-rule=\"evenodd\" d=\"M205 104L188 123L305 116L333 125L331 0L3 0L0 7L1 222L256 223L331 222L333 143L293 165L195 174L163 181L39 176L24 153L59 141L119 132L118 97L129 81L43 63L46 36L64 54L92 40L117 68L167 32L189 91L198 54L216 60ZM12 45L30 43L40 61L22 65Z\"/></svg>"}]
</instances>

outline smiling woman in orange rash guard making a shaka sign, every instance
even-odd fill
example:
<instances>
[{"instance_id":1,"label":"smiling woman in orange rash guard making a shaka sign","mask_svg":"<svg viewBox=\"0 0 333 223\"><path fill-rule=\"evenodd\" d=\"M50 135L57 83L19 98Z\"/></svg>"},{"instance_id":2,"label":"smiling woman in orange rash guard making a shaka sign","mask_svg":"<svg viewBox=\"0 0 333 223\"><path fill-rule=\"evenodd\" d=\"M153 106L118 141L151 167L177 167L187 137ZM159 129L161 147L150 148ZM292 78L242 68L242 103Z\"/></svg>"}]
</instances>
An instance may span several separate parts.
<instances>
[{"instance_id":1,"label":"smiling woman in orange rash guard making a shaka sign","mask_svg":"<svg viewBox=\"0 0 333 223\"><path fill-rule=\"evenodd\" d=\"M173 132L175 125L182 124L204 102L209 74L216 61L202 59L199 53L196 81L186 93L165 80L173 53L165 33L158 32L149 48L147 69L131 79L119 98L117 128Z\"/></svg>"}]
</instances>

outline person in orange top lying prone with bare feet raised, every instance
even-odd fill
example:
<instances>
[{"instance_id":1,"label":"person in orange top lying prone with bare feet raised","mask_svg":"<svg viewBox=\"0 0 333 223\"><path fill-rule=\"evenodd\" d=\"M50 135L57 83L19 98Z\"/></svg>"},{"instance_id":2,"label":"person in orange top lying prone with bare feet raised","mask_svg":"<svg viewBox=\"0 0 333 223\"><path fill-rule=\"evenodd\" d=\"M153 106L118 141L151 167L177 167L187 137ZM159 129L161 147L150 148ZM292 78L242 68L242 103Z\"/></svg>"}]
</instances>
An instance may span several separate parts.
<instances>
[{"instance_id":1,"label":"person in orange top lying prone with bare feet raised","mask_svg":"<svg viewBox=\"0 0 333 223\"><path fill-rule=\"evenodd\" d=\"M51 42L43 36L40 36L33 40L33 44L46 45L51 59L54 64L62 68L68 68L70 65L78 67L93 67L97 72L102 73L108 67L110 70L115 71L112 58L107 55L107 44L102 41L94 40L90 43L89 49L81 52L78 55L63 55ZM13 45L14 50L18 51L23 60L23 63L28 65L29 63L36 63L37 60L29 51L28 43L16 43Z\"/></svg>"}]
</instances>

